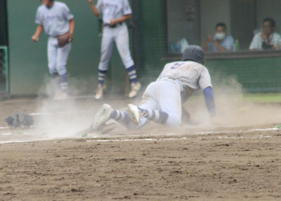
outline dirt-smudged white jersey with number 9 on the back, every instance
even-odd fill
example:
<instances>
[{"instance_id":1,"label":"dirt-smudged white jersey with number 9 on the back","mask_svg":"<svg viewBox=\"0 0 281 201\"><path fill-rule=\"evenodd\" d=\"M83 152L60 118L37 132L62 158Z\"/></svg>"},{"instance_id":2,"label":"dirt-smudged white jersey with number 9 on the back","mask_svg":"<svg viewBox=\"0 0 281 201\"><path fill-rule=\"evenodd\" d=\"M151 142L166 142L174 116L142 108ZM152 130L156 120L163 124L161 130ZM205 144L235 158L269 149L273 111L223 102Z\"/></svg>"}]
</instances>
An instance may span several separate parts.
<instances>
[{"instance_id":1,"label":"dirt-smudged white jersey with number 9 on the back","mask_svg":"<svg viewBox=\"0 0 281 201\"><path fill-rule=\"evenodd\" d=\"M194 91L212 87L211 77L207 68L193 61L177 61L167 63L156 81L172 78L183 86L181 92L184 103Z\"/></svg>"}]
</instances>

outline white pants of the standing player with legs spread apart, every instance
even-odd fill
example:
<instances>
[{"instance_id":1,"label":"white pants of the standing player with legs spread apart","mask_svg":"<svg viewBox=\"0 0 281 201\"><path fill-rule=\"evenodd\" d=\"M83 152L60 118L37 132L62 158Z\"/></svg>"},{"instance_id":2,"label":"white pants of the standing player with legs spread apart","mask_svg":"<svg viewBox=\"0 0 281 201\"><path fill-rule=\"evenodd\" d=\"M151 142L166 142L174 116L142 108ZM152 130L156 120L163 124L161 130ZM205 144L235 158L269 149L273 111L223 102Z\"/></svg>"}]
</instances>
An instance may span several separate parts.
<instances>
[{"instance_id":1,"label":"white pants of the standing player with legs spread apart","mask_svg":"<svg viewBox=\"0 0 281 201\"><path fill-rule=\"evenodd\" d=\"M129 32L127 25L122 25L109 28L103 28L103 37L101 40L101 57L99 63L99 70L107 70L110 58L112 56L113 45L116 43L116 47L122 59L125 68L129 68L134 65L134 61L131 57L129 48Z\"/></svg>"}]
</instances>

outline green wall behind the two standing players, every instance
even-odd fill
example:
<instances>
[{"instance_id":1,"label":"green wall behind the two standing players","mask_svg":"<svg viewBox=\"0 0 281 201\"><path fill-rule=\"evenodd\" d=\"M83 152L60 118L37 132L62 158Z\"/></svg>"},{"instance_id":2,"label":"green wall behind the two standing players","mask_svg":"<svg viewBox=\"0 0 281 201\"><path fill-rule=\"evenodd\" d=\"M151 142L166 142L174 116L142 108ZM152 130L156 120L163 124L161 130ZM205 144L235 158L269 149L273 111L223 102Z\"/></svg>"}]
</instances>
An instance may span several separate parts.
<instances>
[{"instance_id":1,"label":"green wall behind the two standing players","mask_svg":"<svg viewBox=\"0 0 281 201\"><path fill-rule=\"evenodd\" d=\"M61 2L68 5L76 21L67 64L70 88L76 88L77 93L92 93L97 84L97 66L100 59L101 35L98 20L92 14L88 1ZM31 40L37 27L34 20L39 5L41 5L39 0L7 2L11 95L37 94L45 77L48 76L48 37L43 32L39 42ZM124 66L116 48L108 78L109 86L116 86L117 92L123 91L123 82L119 81L124 79Z\"/></svg>"}]
</instances>

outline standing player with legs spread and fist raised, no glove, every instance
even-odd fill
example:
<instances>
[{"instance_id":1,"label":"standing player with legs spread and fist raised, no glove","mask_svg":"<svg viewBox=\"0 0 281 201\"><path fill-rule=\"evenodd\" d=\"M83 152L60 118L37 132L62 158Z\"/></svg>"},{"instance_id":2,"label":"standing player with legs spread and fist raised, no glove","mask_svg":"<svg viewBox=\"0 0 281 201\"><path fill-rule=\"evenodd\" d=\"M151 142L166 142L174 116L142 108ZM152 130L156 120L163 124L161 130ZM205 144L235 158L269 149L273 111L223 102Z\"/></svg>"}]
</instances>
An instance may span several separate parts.
<instances>
[{"instance_id":1,"label":"standing player with legs spread and fist raised, no glove","mask_svg":"<svg viewBox=\"0 0 281 201\"><path fill-rule=\"evenodd\" d=\"M104 79L114 42L130 78L131 89L128 96L130 98L135 97L141 88L141 84L137 82L137 73L129 49L128 27L125 23L126 20L131 18L132 14L129 2L128 0L98 0L96 6L93 0L89 0L89 3L95 16L99 17L100 14L103 14L103 37L95 98L100 99L103 96Z\"/></svg>"}]
</instances>

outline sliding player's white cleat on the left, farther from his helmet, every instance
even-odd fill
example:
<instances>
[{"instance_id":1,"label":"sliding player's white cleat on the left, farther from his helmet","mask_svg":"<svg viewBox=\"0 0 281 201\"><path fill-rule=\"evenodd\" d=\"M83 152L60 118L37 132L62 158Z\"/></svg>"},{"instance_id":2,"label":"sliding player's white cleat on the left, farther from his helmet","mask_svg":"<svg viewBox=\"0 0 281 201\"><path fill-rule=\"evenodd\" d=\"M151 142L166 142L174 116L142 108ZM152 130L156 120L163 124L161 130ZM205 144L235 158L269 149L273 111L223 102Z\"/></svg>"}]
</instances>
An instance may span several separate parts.
<instances>
[{"instance_id":1,"label":"sliding player's white cleat on the left, farther from his helmet","mask_svg":"<svg viewBox=\"0 0 281 201\"><path fill-rule=\"evenodd\" d=\"M97 130L100 128L107 120L110 119L110 114L113 112L113 109L108 104L103 104L100 107L100 110L97 112L94 118L94 123L91 125L91 128Z\"/></svg>"}]
</instances>

